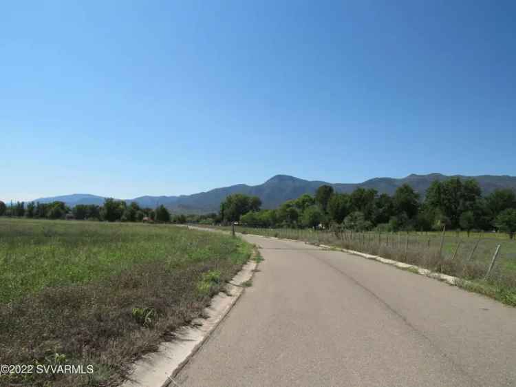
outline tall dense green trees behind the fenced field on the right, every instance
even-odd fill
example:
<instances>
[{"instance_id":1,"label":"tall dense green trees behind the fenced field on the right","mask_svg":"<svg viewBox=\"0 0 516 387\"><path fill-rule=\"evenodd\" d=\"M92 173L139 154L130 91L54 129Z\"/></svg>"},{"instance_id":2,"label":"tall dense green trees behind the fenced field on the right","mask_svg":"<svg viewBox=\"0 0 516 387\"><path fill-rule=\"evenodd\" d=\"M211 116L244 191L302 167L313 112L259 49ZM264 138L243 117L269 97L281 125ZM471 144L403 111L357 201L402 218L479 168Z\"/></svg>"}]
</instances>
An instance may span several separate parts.
<instances>
[{"instance_id":1,"label":"tall dense green trees behind the fenced field on the right","mask_svg":"<svg viewBox=\"0 0 516 387\"><path fill-rule=\"evenodd\" d=\"M222 202L218 222L241 222L255 227L324 227L354 231L437 231L462 229L516 232L516 195L496 189L482 196L474 179L436 180L424 198L409 185L392 196L375 189L357 188L338 193L322 185L314 196L284 202L278 209L260 209L261 201L236 193Z\"/></svg>"}]
</instances>

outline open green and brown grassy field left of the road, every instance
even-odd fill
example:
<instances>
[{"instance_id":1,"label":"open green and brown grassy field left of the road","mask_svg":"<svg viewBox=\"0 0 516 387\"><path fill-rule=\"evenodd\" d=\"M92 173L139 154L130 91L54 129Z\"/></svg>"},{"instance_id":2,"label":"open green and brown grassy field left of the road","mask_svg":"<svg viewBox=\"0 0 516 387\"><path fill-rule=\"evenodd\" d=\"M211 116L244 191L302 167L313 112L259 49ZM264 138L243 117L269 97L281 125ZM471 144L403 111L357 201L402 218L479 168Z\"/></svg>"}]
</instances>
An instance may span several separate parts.
<instances>
[{"instance_id":1,"label":"open green and brown grassy field left of the road","mask_svg":"<svg viewBox=\"0 0 516 387\"><path fill-rule=\"evenodd\" d=\"M118 384L251 253L239 238L170 225L0 218L0 364L94 368L0 385Z\"/></svg>"}]
</instances>

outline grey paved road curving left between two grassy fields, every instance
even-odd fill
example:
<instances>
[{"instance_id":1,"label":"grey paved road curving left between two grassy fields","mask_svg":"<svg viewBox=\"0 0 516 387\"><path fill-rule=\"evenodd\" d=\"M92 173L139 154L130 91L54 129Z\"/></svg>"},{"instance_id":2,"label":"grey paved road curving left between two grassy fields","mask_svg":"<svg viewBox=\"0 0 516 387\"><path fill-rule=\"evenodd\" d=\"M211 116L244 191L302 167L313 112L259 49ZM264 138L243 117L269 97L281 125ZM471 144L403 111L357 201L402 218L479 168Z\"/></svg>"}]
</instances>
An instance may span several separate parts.
<instances>
[{"instance_id":1,"label":"grey paved road curving left between two grassy fields","mask_svg":"<svg viewBox=\"0 0 516 387\"><path fill-rule=\"evenodd\" d=\"M261 271L180 386L516 386L516 308L354 255L246 239Z\"/></svg>"}]
</instances>

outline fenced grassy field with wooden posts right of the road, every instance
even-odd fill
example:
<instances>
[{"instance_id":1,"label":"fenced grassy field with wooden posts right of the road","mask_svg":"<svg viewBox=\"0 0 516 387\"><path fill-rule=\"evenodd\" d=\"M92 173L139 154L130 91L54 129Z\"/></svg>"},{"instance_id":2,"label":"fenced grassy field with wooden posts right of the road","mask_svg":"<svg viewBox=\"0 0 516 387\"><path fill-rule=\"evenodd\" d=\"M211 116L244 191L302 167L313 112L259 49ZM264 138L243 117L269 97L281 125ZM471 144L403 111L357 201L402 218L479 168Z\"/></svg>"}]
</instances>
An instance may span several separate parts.
<instances>
[{"instance_id":1,"label":"fenced grassy field with wooden posts right of the road","mask_svg":"<svg viewBox=\"0 0 516 387\"><path fill-rule=\"evenodd\" d=\"M217 227L230 230L230 227ZM314 231L311 229L263 229L235 227L240 233L303 240L327 244L355 251L363 251L384 258L415 264L432 271L463 278L460 286L516 306L516 240L502 233L445 233L440 252L442 233L353 233L344 231ZM497 246L500 246L495 265L488 278L486 273Z\"/></svg>"}]
</instances>

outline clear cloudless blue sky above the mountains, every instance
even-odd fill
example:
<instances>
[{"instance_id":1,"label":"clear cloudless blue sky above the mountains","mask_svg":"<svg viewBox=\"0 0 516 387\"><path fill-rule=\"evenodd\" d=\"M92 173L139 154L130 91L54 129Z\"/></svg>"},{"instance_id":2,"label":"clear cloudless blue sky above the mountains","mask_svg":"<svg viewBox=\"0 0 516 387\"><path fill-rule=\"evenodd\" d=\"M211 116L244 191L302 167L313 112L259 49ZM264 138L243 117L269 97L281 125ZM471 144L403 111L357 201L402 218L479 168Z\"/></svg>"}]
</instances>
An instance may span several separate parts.
<instances>
[{"instance_id":1,"label":"clear cloudless blue sky above the mountains","mask_svg":"<svg viewBox=\"0 0 516 387\"><path fill-rule=\"evenodd\" d=\"M0 199L516 175L514 1L7 1Z\"/></svg>"}]
</instances>

